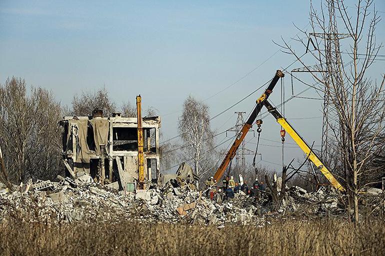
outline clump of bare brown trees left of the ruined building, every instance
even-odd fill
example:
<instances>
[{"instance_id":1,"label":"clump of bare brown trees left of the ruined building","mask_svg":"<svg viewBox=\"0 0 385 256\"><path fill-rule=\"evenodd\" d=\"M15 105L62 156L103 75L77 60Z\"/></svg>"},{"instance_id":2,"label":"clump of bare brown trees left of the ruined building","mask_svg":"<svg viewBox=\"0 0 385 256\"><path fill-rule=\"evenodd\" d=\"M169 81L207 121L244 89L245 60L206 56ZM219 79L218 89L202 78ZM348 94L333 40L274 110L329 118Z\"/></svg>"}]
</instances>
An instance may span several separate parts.
<instances>
[{"instance_id":1,"label":"clump of bare brown trees left of the ruined building","mask_svg":"<svg viewBox=\"0 0 385 256\"><path fill-rule=\"evenodd\" d=\"M11 181L59 171L60 104L51 92L12 77L0 86L0 144Z\"/></svg>"}]
</instances>

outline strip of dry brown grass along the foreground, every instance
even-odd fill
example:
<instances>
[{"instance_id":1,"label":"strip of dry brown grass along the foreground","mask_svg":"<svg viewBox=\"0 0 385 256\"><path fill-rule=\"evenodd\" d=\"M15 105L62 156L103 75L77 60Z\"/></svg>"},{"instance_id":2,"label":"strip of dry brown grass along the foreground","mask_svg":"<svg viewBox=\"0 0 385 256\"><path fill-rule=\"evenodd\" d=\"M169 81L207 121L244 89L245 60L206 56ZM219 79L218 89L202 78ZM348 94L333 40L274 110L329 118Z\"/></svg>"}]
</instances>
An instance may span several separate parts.
<instances>
[{"instance_id":1,"label":"strip of dry brown grass along the foreground","mask_svg":"<svg viewBox=\"0 0 385 256\"><path fill-rule=\"evenodd\" d=\"M285 220L222 229L200 225L0 224L0 255L385 255L385 223Z\"/></svg>"}]
</instances>

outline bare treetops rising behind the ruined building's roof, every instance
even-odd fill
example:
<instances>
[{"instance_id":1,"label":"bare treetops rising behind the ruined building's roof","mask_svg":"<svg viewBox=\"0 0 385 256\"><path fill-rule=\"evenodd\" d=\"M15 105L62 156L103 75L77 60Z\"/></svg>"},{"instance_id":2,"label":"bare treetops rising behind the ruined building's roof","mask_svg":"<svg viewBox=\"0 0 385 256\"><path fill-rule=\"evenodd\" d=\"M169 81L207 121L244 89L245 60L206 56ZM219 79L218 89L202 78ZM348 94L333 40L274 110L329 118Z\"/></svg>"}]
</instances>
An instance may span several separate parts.
<instances>
[{"instance_id":1,"label":"bare treetops rising behind the ruined building's roof","mask_svg":"<svg viewBox=\"0 0 385 256\"><path fill-rule=\"evenodd\" d=\"M80 96L73 96L72 114L90 115L94 109L103 110L104 116L110 116L115 111L115 104L111 101L105 87L94 92L83 91ZM128 110L128 108L125 110ZM136 113L134 116L136 116Z\"/></svg>"}]
</instances>

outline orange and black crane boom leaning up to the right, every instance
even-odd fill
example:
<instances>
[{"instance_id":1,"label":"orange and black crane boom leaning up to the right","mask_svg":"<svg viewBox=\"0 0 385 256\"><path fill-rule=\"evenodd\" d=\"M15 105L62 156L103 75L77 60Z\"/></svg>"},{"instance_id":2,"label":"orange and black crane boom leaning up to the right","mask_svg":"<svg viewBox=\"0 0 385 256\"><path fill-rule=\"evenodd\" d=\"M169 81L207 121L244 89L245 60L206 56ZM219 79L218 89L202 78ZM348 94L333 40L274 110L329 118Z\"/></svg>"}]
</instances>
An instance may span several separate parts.
<instances>
[{"instance_id":1,"label":"orange and black crane boom leaning up to the right","mask_svg":"<svg viewBox=\"0 0 385 256\"><path fill-rule=\"evenodd\" d=\"M263 101L268 98L268 96L272 92L275 84L278 82L279 78L281 78L283 76L284 76L284 74L283 74L283 72L281 70L276 70L275 76L272 78L270 84L267 86L267 88L265 89L263 94L256 100L255 108L252 110L250 116L248 117L247 121L244 123L244 125L243 125L242 129L240 130L239 134L236 135L235 141L232 143L232 145L231 145L230 149L228 150L226 156L224 157L223 161L219 165L219 168L216 170L216 172L214 174L214 179L215 180L218 181L222 177L222 175L223 175L224 171L226 170L228 164L230 163L232 158L234 158L235 152L238 149L240 143L242 142L242 140L246 136L248 130L251 128L253 122L255 121L256 116L260 112L260 109L263 106Z\"/></svg>"}]
</instances>

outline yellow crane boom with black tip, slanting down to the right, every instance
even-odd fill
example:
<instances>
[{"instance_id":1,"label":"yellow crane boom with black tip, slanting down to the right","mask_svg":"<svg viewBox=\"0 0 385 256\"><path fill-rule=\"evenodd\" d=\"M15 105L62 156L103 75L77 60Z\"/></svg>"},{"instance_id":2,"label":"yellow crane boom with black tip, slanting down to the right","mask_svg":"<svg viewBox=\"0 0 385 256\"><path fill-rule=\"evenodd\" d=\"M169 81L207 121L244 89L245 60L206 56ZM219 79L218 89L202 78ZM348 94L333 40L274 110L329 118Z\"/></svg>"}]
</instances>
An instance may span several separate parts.
<instances>
[{"instance_id":1,"label":"yellow crane boom with black tip, slanting down to the right","mask_svg":"<svg viewBox=\"0 0 385 256\"><path fill-rule=\"evenodd\" d=\"M311 150L306 141L295 131L291 124L279 113L279 111L273 107L267 100L264 101L264 105L268 111L275 117L276 121L283 127L283 129L290 135L290 137L297 143L302 151L308 156L308 159L314 163L315 166L322 172L322 174L329 180L329 182L338 190L344 191L343 186L335 179L333 174L327 169L327 167L321 162L316 153Z\"/></svg>"}]
</instances>

